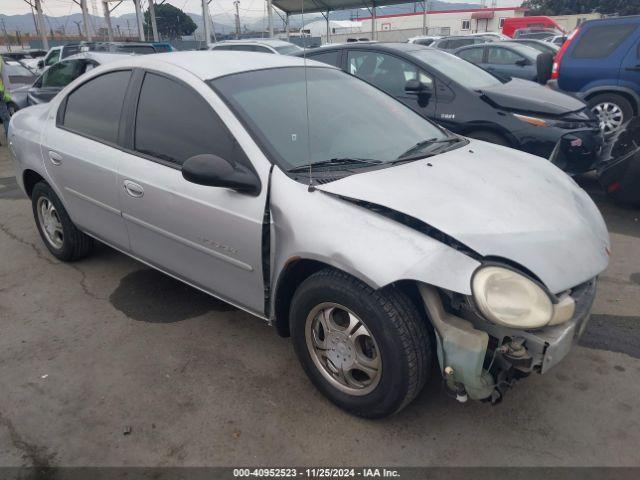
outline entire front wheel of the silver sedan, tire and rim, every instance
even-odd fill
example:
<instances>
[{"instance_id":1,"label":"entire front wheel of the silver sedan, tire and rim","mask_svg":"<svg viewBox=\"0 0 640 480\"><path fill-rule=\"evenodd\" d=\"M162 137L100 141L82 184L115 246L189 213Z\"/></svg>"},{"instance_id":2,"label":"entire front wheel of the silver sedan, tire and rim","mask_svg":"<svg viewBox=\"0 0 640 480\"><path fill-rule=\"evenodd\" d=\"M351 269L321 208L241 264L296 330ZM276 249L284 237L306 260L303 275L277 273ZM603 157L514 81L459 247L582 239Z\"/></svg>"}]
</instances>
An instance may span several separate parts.
<instances>
[{"instance_id":1,"label":"entire front wheel of the silver sedan, tire and rim","mask_svg":"<svg viewBox=\"0 0 640 480\"><path fill-rule=\"evenodd\" d=\"M418 395L431 369L427 323L394 287L333 269L307 278L290 309L294 348L313 384L350 413L380 418Z\"/></svg>"}]
</instances>

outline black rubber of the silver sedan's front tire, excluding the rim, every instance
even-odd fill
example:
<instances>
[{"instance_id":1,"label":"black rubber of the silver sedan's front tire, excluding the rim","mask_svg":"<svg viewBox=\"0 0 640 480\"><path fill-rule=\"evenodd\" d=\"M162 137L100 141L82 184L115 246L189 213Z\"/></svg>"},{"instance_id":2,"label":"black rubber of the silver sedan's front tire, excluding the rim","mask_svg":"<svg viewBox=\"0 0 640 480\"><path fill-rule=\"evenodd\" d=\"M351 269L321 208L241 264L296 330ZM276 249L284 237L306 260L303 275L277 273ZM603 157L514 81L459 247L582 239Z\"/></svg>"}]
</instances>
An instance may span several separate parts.
<instances>
[{"instance_id":1,"label":"black rubber of the silver sedan's front tire, excluding the rim","mask_svg":"<svg viewBox=\"0 0 640 480\"><path fill-rule=\"evenodd\" d=\"M388 315L372 295L373 290L354 295L353 284L340 277L331 282L307 279L294 295L291 305L291 336L296 354L313 384L333 403L360 416L381 417L398 410L407 395L409 371L403 355L405 347L395 334ZM365 293L363 295L363 293ZM316 367L305 338L306 319L311 310L325 302L338 303L354 312L375 338L382 360L382 376L376 388L362 396L349 395L332 386Z\"/></svg>"}]
</instances>

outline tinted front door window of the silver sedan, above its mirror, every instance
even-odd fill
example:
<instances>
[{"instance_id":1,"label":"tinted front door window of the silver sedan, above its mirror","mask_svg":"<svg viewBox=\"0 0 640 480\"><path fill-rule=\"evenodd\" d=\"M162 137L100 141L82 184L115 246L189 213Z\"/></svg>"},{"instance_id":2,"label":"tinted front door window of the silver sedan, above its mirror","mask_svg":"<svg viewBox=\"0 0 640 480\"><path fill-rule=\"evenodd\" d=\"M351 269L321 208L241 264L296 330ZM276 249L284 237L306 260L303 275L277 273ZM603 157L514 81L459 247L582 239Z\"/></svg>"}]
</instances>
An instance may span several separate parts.
<instances>
[{"instance_id":1,"label":"tinted front door window of the silver sedan, above its mirror","mask_svg":"<svg viewBox=\"0 0 640 480\"><path fill-rule=\"evenodd\" d=\"M184 84L152 73L142 83L134 148L175 165L205 153L230 162L243 155L204 98Z\"/></svg>"}]
</instances>

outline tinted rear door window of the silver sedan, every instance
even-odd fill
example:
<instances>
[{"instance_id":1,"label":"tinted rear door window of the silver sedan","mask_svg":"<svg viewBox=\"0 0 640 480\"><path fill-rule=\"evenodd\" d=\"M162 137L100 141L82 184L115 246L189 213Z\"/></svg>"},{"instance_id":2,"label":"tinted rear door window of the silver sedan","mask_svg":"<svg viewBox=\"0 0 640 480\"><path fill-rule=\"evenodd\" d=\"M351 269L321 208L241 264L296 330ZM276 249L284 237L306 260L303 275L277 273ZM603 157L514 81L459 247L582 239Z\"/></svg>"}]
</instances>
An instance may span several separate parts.
<instances>
[{"instance_id":1,"label":"tinted rear door window of the silver sedan","mask_svg":"<svg viewBox=\"0 0 640 480\"><path fill-rule=\"evenodd\" d=\"M130 71L111 72L82 84L66 99L62 125L99 141L117 143L130 77Z\"/></svg>"}]
</instances>

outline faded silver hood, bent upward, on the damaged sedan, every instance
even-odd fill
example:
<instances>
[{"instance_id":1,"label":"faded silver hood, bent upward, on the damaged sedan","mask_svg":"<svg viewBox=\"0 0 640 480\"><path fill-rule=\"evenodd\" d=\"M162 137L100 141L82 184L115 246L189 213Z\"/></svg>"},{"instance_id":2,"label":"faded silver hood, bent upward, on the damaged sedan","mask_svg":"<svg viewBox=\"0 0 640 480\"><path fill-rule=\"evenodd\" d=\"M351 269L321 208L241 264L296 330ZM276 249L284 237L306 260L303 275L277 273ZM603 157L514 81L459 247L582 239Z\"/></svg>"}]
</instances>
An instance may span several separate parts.
<instances>
[{"instance_id":1,"label":"faded silver hood, bent upward, on the damaged sedan","mask_svg":"<svg viewBox=\"0 0 640 480\"><path fill-rule=\"evenodd\" d=\"M554 293L608 263L609 235L584 190L547 160L505 147L471 141L318 189L414 217L482 256L522 265Z\"/></svg>"}]
</instances>

